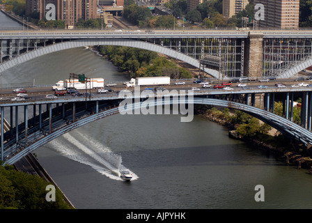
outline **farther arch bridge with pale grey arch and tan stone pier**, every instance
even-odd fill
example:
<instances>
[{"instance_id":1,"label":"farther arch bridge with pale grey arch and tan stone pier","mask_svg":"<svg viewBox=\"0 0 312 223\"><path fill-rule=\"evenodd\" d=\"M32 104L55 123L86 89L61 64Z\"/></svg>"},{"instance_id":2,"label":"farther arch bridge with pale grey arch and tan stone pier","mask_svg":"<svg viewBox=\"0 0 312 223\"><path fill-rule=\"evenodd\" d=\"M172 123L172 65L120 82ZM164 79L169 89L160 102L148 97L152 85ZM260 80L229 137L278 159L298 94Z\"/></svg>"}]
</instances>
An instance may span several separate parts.
<instances>
[{"instance_id":1,"label":"farther arch bridge with pale grey arch and tan stone pier","mask_svg":"<svg viewBox=\"0 0 312 223\"><path fill-rule=\"evenodd\" d=\"M37 56L86 45L148 49L212 77L288 78L311 66L311 31L0 31L0 72ZM220 64L205 61L214 56ZM203 65L203 66L201 66Z\"/></svg>"}]
</instances>

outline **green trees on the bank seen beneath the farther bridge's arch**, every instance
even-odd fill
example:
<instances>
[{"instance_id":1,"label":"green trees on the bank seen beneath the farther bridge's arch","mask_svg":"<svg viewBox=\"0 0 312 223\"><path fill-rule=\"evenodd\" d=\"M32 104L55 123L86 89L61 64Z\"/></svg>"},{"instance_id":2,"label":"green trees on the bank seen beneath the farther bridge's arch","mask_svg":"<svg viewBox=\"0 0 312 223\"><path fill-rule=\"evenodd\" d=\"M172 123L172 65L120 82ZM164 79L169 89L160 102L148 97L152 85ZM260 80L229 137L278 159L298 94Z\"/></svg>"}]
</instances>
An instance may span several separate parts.
<instances>
[{"instance_id":1,"label":"green trees on the bank seen beneath the farther bridge's arch","mask_svg":"<svg viewBox=\"0 0 312 223\"><path fill-rule=\"evenodd\" d=\"M145 49L119 46L100 46L100 54L107 58L120 70L134 77L159 77L167 76L173 79L192 78L191 72L178 67L171 59L158 56L156 52Z\"/></svg>"}]
</instances>

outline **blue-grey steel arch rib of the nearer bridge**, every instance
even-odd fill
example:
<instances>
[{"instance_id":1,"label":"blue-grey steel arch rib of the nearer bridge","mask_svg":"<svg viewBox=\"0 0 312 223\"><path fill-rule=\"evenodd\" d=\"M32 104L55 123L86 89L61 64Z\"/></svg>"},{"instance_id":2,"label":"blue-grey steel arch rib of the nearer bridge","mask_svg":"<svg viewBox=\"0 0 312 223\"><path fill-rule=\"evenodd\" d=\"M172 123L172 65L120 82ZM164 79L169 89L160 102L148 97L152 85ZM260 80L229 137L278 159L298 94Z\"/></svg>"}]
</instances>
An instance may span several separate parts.
<instances>
[{"instance_id":1,"label":"blue-grey steel arch rib of the nearer bridge","mask_svg":"<svg viewBox=\"0 0 312 223\"><path fill-rule=\"evenodd\" d=\"M276 130L279 130L283 134L286 134L286 136L292 139L297 139L299 141L302 141L306 146L308 146L309 144L312 144L312 132L310 132L309 130L306 130L305 128L302 128L301 126L295 123L292 123L292 121L289 121L286 118L283 118L276 114L272 114L271 112L267 112L263 109L253 107L251 105L244 105L238 102L231 102L228 100L219 100L219 99L212 99L212 98L194 98L190 102L197 104L197 105L212 105L212 106L220 106L220 107L238 109L242 112L246 112L247 114L251 114L251 116L259 118L261 121L271 125L273 128L276 128ZM104 112L98 112L91 116L86 116L86 118L81 118L80 120L77 120L74 123L65 125L65 127L63 128L55 130L51 132L50 134L45 134L45 136L43 137L42 136L39 137L39 139L35 141L33 144L29 144L29 146L24 148L22 151L16 153L15 155L12 155L11 157L8 157L6 160L3 160L3 164L14 164L15 162L20 160L22 157L24 157L28 153L35 151L40 146L47 144L49 141L56 139L62 134L70 132L71 130L75 130L76 128L79 128L82 125L86 125L88 123L97 121L107 116L118 114L120 112L127 112L130 110L139 109L141 108L142 103L143 102L134 102L132 106L129 106L126 108L115 107L113 109L105 110ZM170 98L170 99L162 98L160 102L159 100L149 101L148 106L155 107L159 105L178 105L180 103L181 104L185 103L185 101L180 102L178 98ZM9 149L10 148L8 148L8 150Z\"/></svg>"}]
</instances>

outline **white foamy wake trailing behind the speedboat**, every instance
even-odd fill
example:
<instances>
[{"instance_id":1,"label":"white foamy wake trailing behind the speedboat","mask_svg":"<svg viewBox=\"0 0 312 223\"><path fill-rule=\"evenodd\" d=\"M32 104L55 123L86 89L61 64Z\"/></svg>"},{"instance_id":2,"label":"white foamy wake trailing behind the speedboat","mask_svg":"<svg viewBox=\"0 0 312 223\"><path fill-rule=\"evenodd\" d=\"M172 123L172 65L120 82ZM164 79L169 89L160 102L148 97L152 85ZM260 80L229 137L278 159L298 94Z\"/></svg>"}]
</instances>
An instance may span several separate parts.
<instances>
[{"instance_id":1,"label":"white foamy wake trailing behind the speedboat","mask_svg":"<svg viewBox=\"0 0 312 223\"><path fill-rule=\"evenodd\" d=\"M49 142L49 147L81 164L86 164L100 174L113 180L122 180L120 170L127 170L123 166L121 155L113 153L109 147L102 145L99 141L88 139L86 135L75 130L75 137L72 134L63 134L62 137ZM132 171L132 180L139 178Z\"/></svg>"}]
</instances>

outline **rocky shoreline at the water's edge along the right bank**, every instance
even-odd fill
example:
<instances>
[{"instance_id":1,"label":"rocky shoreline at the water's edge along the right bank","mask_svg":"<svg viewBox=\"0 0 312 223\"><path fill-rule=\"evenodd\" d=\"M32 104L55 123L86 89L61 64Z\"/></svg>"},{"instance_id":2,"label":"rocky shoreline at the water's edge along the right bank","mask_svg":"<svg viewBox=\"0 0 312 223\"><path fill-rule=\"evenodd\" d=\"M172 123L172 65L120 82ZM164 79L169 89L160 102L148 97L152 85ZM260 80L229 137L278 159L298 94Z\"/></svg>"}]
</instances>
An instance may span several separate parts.
<instances>
[{"instance_id":1,"label":"rocky shoreline at the water's edge along the right bank","mask_svg":"<svg viewBox=\"0 0 312 223\"><path fill-rule=\"evenodd\" d=\"M254 148L265 151L267 155L273 155L277 161L285 162L286 165L297 166L297 169L309 169L310 174L312 174L312 159L306 156L310 155L311 153L308 148L304 148L302 153L300 153L298 152L299 149L296 150L276 147L265 143L265 141L241 137L236 132L237 126L233 125L233 123L229 122L226 118L214 116L213 114L207 112L206 109L196 109L195 114L197 116L200 116L201 118L205 118L209 121L213 121L214 123L218 123L228 128L228 137L231 137L232 139L242 140L247 144L251 144ZM300 146L300 150L302 150L302 145L298 144L296 146Z\"/></svg>"}]
</instances>

